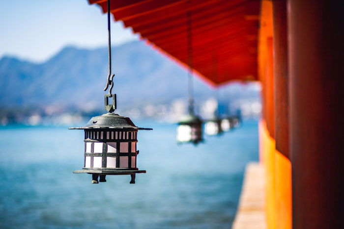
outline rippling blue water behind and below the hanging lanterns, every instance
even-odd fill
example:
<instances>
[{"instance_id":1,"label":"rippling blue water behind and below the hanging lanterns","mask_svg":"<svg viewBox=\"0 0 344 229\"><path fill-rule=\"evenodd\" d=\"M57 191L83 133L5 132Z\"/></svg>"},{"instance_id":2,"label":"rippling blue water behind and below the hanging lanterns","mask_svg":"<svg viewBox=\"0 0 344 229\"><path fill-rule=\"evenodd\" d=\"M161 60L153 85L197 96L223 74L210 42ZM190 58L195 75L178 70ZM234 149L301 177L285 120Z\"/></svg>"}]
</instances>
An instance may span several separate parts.
<instances>
[{"instance_id":1,"label":"rippling blue water behind and below the hanging lanterns","mask_svg":"<svg viewBox=\"0 0 344 229\"><path fill-rule=\"evenodd\" d=\"M258 160L258 124L250 121L205 143L177 145L175 125L139 131L130 176L73 174L83 166L84 133L66 127L0 129L0 228L230 228L245 165Z\"/></svg>"}]
</instances>

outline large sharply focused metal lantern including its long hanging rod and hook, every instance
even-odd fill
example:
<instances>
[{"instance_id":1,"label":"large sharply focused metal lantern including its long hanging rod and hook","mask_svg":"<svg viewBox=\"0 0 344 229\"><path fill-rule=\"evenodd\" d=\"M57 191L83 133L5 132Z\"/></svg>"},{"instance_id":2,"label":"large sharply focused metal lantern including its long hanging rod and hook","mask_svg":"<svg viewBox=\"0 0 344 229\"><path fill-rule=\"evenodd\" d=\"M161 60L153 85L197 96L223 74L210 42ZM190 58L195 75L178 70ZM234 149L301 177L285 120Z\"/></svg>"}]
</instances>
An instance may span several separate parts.
<instances>
[{"instance_id":1,"label":"large sharply focused metal lantern including its long hanging rod and hook","mask_svg":"<svg viewBox=\"0 0 344 229\"><path fill-rule=\"evenodd\" d=\"M110 1L108 1L110 9ZM116 109L116 95L111 91L114 87L114 74L111 75L111 38L110 38L110 10L108 10L109 28L109 75L106 87L109 94L105 97L105 109L108 113L92 117L85 127L70 127L69 129L84 129L85 151L84 167L73 173L87 173L92 175L92 183L106 182L106 175L130 175L130 183L135 183L137 173L145 173L145 170L137 168L137 133L141 128L124 116L114 114ZM109 104L109 98L113 103ZM99 178L99 181L98 181Z\"/></svg>"}]
</instances>

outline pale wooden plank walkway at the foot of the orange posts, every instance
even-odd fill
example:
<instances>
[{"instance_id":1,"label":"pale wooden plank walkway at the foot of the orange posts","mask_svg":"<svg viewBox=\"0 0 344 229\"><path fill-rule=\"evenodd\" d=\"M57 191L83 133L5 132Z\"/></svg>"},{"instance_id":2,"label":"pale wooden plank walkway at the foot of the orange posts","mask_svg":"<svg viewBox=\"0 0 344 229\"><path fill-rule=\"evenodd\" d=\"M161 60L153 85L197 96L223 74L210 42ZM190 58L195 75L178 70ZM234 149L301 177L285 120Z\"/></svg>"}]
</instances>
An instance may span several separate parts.
<instances>
[{"instance_id":1,"label":"pale wooden plank walkway at the foot of the orange posts","mask_svg":"<svg viewBox=\"0 0 344 229\"><path fill-rule=\"evenodd\" d=\"M246 167L238 211L233 229L266 229L265 176L259 163Z\"/></svg>"}]
</instances>

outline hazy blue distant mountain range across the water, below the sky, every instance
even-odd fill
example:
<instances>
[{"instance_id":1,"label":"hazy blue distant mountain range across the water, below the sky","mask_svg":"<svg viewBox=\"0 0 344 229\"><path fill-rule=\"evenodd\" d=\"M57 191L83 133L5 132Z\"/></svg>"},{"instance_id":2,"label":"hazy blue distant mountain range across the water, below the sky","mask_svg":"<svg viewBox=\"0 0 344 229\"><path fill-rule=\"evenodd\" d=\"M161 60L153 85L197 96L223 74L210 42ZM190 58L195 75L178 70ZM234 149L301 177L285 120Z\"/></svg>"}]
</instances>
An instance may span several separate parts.
<instances>
[{"instance_id":1,"label":"hazy blue distant mountain range across the water, below the sky","mask_svg":"<svg viewBox=\"0 0 344 229\"><path fill-rule=\"evenodd\" d=\"M187 73L141 41L113 48L114 89L119 107L142 107L186 98ZM15 57L0 59L0 106L54 106L92 110L103 107L103 88L108 72L106 48L93 50L66 47L40 64ZM201 103L215 96L195 80L195 97ZM255 86L233 84L220 97L257 97Z\"/></svg>"}]
</instances>

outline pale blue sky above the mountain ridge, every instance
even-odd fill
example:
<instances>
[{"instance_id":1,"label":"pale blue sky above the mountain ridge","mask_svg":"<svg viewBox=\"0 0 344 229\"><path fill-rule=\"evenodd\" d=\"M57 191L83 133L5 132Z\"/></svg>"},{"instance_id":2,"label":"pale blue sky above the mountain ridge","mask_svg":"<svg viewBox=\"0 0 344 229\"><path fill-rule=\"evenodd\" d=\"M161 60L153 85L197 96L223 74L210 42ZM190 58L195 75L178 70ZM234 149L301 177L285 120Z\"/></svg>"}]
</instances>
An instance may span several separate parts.
<instances>
[{"instance_id":1,"label":"pale blue sky above the mountain ridge","mask_svg":"<svg viewBox=\"0 0 344 229\"><path fill-rule=\"evenodd\" d=\"M0 7L0 58L45 61L67 45L107 45L106 14L87 0L10 0ZM138 39L112 20L112 44Z\"/></svg>"}]
</instances>

